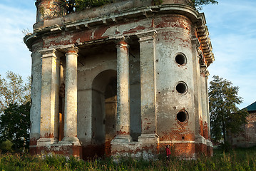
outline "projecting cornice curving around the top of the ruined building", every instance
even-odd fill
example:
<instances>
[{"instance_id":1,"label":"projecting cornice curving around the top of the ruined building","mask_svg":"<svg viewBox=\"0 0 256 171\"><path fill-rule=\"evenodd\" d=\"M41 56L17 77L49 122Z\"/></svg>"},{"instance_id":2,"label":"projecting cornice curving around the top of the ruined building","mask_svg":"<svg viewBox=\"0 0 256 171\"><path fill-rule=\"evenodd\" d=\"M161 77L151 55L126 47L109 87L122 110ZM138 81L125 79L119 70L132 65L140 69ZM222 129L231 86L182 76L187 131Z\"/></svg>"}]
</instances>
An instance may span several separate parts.
<instances>
[{"instance_id":1,"label":"projecting cornice curving around the top of the ruined building","mask_svg":"<svg viewBox=\"0 0 256 171\"><path fill-rule=\"evenodd\" d=\"M86 12L86 11L85 11ZM198 38L200 44L203 48L203 54L208 63L212 63L214 61L214 56L212 53L212 46L210 43L210 38L208 38L208 29L205 26L205 16L204 14L198 13L193 7L184 5L184 4L164 4L160 6L140 6L138 8L133 9L124 9L118 14L109 14L107 16L98 16L91 19L82 19L77 21L68 21L64 22L63 19L61 23L53 24L51 26L45 26L43 28L35 28L34 33L25 36L24 42L31 50L31 46L33 42L44 35L51 35L55 33L61 33L62 31L74 31L74 30L86 30L91 29L96 26L108 25L108 24L121 24L129 19L144 17L145 19L150 16L154 16L156 14L180 14L186 16L196 24L198 31ZM64 16L68 17L68 16ZM54 22L48 22L54 23ZM206 28L206 29L205 29ZM130 33L128 33L130 34ZM136 33L132 33L133 36L136 36ZM139 34L139 33L138 33ZM124 36L130 36L124 34ZM109 36L106 38L113 39L113 36Z\"/></svg>"}]
</instances>

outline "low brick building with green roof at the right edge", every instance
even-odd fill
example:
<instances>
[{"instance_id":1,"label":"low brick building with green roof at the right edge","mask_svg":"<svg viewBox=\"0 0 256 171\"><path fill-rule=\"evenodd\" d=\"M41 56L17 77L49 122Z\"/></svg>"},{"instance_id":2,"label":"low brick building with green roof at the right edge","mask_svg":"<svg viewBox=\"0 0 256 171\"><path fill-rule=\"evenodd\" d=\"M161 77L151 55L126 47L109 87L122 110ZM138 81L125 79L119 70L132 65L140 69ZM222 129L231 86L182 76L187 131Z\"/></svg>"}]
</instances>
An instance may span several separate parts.
<instances>
[{"instance_id":1,"label":"low brick building with green roof at the right edge","mask_svg":"<svg viewBox=\"0 0 256 171\"><path fill-rule=\"evenodd\" d=\"M253 147L256 145L256 102L246 107L247 123L242 125L242 131L238 134L230 134L228 140L235 147Z\"/></svg>"}]
</instances>

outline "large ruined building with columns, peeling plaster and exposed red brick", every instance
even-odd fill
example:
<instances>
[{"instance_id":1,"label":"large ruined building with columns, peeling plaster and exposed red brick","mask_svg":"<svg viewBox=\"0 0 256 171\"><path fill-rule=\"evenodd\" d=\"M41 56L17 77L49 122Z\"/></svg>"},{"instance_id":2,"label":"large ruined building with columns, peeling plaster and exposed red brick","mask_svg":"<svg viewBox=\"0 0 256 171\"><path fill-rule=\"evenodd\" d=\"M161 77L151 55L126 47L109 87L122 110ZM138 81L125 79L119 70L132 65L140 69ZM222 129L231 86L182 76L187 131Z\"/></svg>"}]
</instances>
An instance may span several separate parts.
<instances>
[{"instance_id":1,"label":"large ruined building with columns, peeling plaster and exposed red brick","mask_svg":"<svg viewBox=\"0 0 256 171\"><path fill-rule=\"evenodd\" d=\"M31 154L213 155L204 14L187 0L116 1L66 14L37 0Z\"/></svg>"}]
</instances>

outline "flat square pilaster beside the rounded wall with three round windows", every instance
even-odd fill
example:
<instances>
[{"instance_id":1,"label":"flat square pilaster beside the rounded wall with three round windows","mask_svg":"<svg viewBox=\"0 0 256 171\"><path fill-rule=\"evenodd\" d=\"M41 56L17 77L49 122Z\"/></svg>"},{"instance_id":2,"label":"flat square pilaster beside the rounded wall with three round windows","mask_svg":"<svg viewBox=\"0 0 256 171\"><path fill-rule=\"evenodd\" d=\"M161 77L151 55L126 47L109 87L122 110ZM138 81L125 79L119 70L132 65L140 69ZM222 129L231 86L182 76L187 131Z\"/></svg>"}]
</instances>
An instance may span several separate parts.
<instances>
[{"instance_id":1,"label":"flat square pilaster beside the rounded wall with three round windows","mask_svg":"<svg viewBox=\"0 0 256 171\"><path fill-rule=\"evenodd\" d=\"M156 31L137 34L140 42L141 136L158 138L155 111L155 35Z\"/></svg>"}]
</instances>

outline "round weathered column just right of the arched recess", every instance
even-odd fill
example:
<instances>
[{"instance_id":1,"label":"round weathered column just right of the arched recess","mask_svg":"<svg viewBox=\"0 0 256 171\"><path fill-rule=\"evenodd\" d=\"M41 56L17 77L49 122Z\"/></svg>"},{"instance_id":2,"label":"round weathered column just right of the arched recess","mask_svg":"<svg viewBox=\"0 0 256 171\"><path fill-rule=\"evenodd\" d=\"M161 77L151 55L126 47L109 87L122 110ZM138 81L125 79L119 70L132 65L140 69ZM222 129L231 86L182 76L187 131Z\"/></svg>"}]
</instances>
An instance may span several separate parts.
<instances>
[{"instance_id":1,"label":"round weathered column just right of the arched recess","mask_svg":"<svg viewBox=\"0 0 256 171\"><path fill-rule=\"evenodd\" d=\"M130 79L129 46L124 38L118 40L117 48L117 136L113 142L130 142Z\"/></svg>"}]
</instances>

